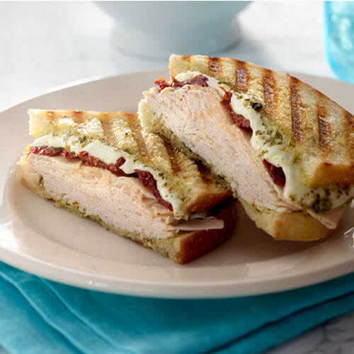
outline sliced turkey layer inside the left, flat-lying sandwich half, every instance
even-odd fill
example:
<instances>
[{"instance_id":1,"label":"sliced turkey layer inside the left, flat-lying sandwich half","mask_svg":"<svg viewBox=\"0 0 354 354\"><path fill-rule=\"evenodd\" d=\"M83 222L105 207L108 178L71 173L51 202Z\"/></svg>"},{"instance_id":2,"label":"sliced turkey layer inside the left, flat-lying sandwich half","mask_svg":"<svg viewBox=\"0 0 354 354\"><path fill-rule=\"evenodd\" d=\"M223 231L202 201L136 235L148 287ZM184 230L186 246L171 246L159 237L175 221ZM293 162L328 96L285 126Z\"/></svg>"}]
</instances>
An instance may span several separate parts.
<instances>
[{"instance_id":1,"label":"sliced turkey layer inside the left, flat-lying sandwich half","mask_svg":"<svg viewBox=\"0 0 354 354\"><path fill-rule=\"evenodd\" d=\"M19 163L23 182L40 195L42 188L45 198L55 200L60 206L77 207L82 215L147 239L224 227L224 222L212 212L194 213L187 221L176 219L138 178L118 178L108 169L82 164L78 158L63 155L25 154Z\"/></svg>"}]
</instances>

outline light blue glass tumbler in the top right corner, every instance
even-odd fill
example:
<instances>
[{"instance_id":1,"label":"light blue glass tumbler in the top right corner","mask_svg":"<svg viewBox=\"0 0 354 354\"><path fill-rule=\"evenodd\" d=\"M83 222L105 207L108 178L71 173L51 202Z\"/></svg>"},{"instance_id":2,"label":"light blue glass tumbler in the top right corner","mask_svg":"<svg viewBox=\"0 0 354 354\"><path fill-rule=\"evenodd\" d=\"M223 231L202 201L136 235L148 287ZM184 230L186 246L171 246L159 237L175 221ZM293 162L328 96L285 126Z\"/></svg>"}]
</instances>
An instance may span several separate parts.
<instances>
[{"instance_id":1,"label":"light blue glass tumbler in the top right corner","mask_svg":"<svg viewBox=\"0 0 354 354\"><path fill-rule=\"evenodd\" d=\"M354 1L325 1L324 30L331 69L354 84Z\"/></svg>"}]
</instances>

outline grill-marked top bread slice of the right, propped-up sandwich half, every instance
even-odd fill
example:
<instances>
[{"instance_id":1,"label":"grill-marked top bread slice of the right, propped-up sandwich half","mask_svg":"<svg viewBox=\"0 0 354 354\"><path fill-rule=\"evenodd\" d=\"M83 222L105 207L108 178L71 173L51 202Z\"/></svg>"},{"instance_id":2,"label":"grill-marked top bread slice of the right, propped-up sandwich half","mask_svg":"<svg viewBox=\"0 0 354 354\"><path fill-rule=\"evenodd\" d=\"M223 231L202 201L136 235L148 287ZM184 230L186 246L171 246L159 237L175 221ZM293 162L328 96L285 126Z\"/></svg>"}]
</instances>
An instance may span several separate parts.
<instances>
[{"instance_id":1,"label":"grill-marked top bread slice of the right, propped-up sandwich half","mask_svg":"<svg viewBox=\"0 0 354 354\"><path fill-rule=\"evenodd\" d=\"M256 97L268 125L299 156L309 187L354 184L354 116L312 86L230 58L171 55L169 70L171 76L198 71Z\"/></svg>"}]
</instances>

